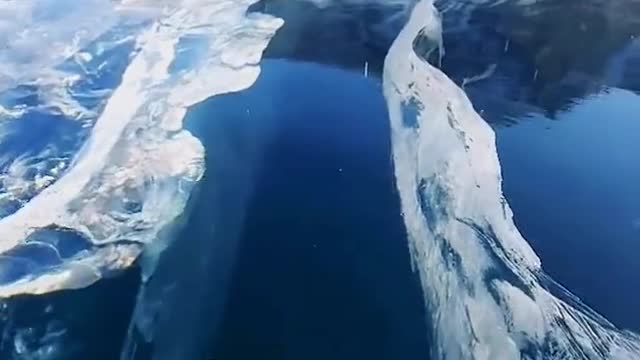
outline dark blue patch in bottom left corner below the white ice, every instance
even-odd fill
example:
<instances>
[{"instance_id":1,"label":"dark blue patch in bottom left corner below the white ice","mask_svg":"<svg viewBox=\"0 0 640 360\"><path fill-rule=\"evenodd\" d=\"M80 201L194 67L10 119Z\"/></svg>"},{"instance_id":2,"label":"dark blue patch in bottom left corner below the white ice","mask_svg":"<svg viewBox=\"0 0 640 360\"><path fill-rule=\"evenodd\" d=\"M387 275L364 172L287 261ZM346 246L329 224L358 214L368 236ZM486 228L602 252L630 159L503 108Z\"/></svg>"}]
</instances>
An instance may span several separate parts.
<instances>
[{"instance_id":1,"label":"dark blue patch in bottom left corner below the white ice","mask_svg":"<svg viewBox=\"0 0 640 360\"><path fill-rule=\"evenodd\" d=\"M117 359L139 279L132 268L85 289L6 301L0 306L0 359Z\"/></svg>"}]
</instances>

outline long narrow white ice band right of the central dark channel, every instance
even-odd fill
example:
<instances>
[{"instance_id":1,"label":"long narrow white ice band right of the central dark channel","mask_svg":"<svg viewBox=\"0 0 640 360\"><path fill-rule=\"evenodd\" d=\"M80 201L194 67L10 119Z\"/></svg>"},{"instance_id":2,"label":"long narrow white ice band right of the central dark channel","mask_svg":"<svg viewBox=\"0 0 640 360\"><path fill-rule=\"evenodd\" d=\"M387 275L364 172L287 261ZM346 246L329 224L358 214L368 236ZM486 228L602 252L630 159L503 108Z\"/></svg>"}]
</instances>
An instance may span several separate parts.
<instances>
[{"instance_id":1,"label":"long narrow white ice band right of the central dark channel","mask_svg":"<svg viewBox=\"0 0 640 360\"><path fill-rule=\"evenodd\" d=\"M491 128L417 54L440 39L423 0L385 62L393 156L438 359L636 359L620 331L548 278L512 220ZM421 39L420 43L425 41Z\"/></svg>"}]
</instances>

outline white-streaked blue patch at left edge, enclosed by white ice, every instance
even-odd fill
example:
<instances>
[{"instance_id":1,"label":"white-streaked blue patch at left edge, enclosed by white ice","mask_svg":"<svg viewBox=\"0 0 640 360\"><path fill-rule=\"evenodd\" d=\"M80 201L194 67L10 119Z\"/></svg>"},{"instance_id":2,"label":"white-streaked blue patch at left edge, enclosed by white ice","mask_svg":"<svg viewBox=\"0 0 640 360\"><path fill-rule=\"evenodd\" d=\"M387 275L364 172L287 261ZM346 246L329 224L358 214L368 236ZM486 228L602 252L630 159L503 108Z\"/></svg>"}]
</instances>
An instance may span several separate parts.
<instances>
[{"instance_id":1,"label":"white-streaked blue patch at left edge, enclosed by white ice","mask_svg":"<svg viewBox=\"0 0 640 360\"><path fill-rule=\"evenodd\" d=\"M0 218L17 211L43 188L22 182L33 184L42 176L57 179L81 149L129 64L134 44L122 41L128 27L107 32L87 46L85 51L96 54L91 61L79 64L70 58L60 64L58 70L67 81L79 76L68 87L59 83L61 77L0 93L0 106L25 107L16 119L0 122Z\"/></svg>"}]
</instances>

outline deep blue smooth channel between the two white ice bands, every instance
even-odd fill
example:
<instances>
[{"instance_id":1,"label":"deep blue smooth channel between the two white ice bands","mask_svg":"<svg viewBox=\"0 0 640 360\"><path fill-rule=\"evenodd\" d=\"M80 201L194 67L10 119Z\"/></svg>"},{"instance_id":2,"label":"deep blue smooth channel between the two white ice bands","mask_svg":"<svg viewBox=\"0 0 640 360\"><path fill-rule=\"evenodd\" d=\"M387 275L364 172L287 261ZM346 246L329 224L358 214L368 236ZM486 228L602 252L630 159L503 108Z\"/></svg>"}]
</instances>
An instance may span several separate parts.
<instances>
[{"instance_id":1,"label":"deep blue smooth channel between the two white ice bands","mask_svg":"<svg viewBox=\"0 0 640 360\"><path fill-rule=\"evenodd\" d=\"M428 358L378 80L266 60L253 87L198 105L187 124L207 150L187 236L236 223L207 210L220 186L243 194L222 196L243 218L237 239L207 240L234 243L209 294L224 306L207 320L211 358Z\"/></svg>"}]
</instances>

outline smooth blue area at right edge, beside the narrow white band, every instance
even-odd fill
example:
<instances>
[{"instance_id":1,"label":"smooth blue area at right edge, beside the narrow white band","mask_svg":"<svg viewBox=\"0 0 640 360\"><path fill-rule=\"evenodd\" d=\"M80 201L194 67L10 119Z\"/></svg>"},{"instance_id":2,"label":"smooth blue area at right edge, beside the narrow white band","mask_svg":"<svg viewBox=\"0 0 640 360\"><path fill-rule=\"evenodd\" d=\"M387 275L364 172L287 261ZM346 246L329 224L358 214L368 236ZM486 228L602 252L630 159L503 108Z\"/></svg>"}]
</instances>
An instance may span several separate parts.
<instances>
[{"instance_id":1,"label":"smooth blue area at right edge, beside the narrow white band","mask_svg":"<svg viewBox=\"0 0 640 360\"><path fill-rule=\"evenodd\" d=\"M497 131L504 190L544 268L640 331L640 96L610 89Z\"/></svg>"}]
</instances>

